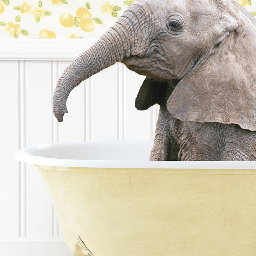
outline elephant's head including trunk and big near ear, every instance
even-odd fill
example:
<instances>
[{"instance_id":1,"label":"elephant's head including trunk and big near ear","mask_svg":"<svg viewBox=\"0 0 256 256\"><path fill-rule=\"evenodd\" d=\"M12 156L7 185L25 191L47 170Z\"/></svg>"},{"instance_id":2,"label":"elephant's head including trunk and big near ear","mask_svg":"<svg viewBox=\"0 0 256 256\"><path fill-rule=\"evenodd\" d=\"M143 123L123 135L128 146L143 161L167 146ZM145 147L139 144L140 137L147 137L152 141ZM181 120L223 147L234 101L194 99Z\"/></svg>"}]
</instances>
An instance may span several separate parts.
<instances>
[{"instance_id":1,"label":"elephant's head including trunk and big near ear","mask_svg":"<svg viewBox=\"0 0 256 256\"><path fill-rule=\"evenodd\" d=\"M146 100L140 105L138 99L137 108L161 103L161 90L170 84L165 102L173 117L256 130L255 59L256 21L233 0L135 0L64 71L53 111L61 122L75 86L122 62L158 81L141 88Z\"/></svg>"}]
</instances>

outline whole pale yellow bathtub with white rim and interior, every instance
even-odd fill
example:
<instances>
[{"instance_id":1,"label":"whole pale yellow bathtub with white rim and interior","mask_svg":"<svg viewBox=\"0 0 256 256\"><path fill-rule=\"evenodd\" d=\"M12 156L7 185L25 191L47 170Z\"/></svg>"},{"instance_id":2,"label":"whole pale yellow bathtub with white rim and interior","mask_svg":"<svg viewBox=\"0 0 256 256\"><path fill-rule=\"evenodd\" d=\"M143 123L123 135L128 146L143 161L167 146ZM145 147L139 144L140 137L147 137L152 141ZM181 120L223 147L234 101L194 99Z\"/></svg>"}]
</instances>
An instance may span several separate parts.
<instances>
[{"instance_id":1,"label":"whole pale yellow bathtub with white rim and interior","mask_svg":"<svg viewBox=\"0 0 256 256\"><path fill-rule=\"evenodd\" d=\"M255 162L148 161L153 142L40 145L39 170L75 256L255 256Z\"/></svg>"}]
</instances>

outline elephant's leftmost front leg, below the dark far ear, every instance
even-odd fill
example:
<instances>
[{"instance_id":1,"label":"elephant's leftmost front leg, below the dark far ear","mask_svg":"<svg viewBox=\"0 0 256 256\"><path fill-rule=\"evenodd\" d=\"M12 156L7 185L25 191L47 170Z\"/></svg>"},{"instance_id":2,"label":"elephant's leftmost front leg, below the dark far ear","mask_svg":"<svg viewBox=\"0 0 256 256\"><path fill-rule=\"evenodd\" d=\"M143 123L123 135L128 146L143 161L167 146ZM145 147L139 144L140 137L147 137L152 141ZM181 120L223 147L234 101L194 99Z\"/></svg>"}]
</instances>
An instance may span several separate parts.
<instances>
[{"instance_id":1,"label":"elephant's leftmost front leg, below the dark far ear","mask_svg":"<svg viewBox=\"0 0 256 256\"><path fill-rule=\"evenodd\" d=\"M150 161L176 161L180 150L170 130L170 118L166 118L166 110L159 110L154 145L149 157ZM168 121L167 121L168 120Z\"/></svg>"}]
</instances>

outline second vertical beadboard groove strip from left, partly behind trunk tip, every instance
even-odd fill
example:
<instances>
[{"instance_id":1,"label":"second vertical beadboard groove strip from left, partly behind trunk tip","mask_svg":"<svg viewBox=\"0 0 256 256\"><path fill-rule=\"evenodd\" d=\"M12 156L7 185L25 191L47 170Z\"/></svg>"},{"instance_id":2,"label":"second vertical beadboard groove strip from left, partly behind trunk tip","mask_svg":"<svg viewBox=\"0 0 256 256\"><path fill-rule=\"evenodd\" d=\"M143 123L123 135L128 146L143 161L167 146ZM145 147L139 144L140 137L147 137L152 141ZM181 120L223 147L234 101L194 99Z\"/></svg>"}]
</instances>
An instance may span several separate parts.
<instances>
[{"instance_id":1,"label":"second vertical beadboard groove strip from left, partly behind trunk tip","mask_svg":"<svg viewBox=\"0 0 256 256\"><path fill-rule=\"evenodd\" d=\"M52 71L52 98L53 98L54 90L60 75L59 74L60 62L52 61L51 71ZM59 123L57 119L54 117L53 111L52 111L52 143L59 143ZM59 234L60 234L59 230L60 230L59 222L52 205L52 236L59 237Z\"/></svg>"}]
</instances>

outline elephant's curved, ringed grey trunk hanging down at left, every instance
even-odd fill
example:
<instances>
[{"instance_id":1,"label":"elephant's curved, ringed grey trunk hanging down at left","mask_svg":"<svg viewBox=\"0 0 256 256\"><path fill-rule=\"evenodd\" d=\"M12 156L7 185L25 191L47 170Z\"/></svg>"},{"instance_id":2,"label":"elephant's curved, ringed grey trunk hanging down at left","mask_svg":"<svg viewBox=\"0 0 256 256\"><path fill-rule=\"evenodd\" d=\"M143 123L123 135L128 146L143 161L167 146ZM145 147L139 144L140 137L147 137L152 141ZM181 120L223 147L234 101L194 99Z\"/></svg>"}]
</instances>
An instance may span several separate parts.
<instances>
[{"instance_id":1,"label":"elephant's curved, ringed grey trunk hanging down at left","mask_svg":"<svg viewBox=\"0 0 256 256\"><path fill-rule=\"evenodd\" d=\"M60 76L53 96L53 112L59 122L68 113L66 101L82 81L129 56L114 28L108 30L93 46L74 60Z\"/></svg>"}]
</instances>

